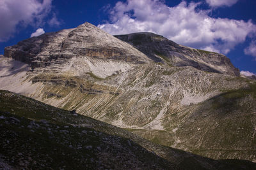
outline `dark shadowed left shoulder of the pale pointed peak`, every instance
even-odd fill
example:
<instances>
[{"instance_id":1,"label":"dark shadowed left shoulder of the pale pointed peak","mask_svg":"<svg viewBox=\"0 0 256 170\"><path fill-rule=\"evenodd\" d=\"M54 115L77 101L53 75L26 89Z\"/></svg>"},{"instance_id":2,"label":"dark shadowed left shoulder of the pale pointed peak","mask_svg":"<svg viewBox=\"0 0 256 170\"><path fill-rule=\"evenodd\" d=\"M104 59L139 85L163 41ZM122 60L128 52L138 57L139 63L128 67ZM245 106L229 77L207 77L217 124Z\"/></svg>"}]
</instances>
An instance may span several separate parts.
<instances>
[{"instance_id":1,"label":"dark shadowed left shoulder of the pale pointed peak","mask_svg":"<svg viewBox=\"0 0 256 170\"><path fill-rule=\"evenodd\" d=\"M72 29L42 34L20 41L17 45L4 48L4 57L10 57L35 67L45 67L59 62L65 63L70 55L61 55L58 59L52 53L60 52L60 43L68 36Z\"/></svg>"}]
</instances>

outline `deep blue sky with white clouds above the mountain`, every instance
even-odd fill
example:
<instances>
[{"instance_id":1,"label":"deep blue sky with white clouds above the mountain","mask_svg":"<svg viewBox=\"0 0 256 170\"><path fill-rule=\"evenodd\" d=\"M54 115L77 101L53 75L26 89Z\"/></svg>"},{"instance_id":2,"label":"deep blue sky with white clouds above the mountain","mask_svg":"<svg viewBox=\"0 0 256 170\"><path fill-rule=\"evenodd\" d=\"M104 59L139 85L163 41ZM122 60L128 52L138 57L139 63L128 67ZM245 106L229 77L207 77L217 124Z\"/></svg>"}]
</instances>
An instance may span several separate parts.
<instances>
[{"instance_id":1,"label":"deep blue sky with white clouds above the mountain","mask_svg":"<svg viewBox=\"0 0 256 170\"><path fill-rule=\"evenodd\" d=\"M226 55L256 74L255 0L0 0L4 47L90 22L109 34L154 32L180 45Z\"/></svg>"}]
</instances>

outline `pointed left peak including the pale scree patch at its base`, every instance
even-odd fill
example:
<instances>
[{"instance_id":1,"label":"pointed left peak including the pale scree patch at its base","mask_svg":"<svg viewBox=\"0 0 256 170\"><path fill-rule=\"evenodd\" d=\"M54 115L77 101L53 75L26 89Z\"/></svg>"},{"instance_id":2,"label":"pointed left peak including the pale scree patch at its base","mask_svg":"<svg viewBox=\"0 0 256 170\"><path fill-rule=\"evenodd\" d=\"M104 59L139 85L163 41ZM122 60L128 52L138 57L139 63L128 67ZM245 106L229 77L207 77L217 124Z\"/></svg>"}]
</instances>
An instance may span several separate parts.
<instances>
[{"instance_id":1,"label":"pointed left peak including the pale scree patch at its base","mask_svg":"<svg viewBox=\"0 0 256 170\"><path fill-rule=\"evenodd\" d=\"M79 76L93 71L100 77L125 71L133 64L150 62L145 54L88 22L76 29L20 41L17 45L4 48L4 56L30 64L33 72L45 71L42 68L47 67L56 73L68 69ZM102 69L99 69L100 64ZM106 73L107 69L111 73Z\"/></svg>"}]
</instances>

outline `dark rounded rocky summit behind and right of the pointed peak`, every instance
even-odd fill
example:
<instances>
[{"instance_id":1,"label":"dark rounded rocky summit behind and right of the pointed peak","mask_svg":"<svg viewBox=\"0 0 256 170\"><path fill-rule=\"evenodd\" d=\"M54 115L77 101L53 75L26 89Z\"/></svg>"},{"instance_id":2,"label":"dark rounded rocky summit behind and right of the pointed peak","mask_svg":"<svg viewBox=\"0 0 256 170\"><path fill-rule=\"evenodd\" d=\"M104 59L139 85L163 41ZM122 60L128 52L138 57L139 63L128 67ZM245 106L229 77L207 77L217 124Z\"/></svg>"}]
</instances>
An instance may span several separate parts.
<instances>
[{"instance_id":1,"label":"dark rounded rocky summit behind and right of the pointed peak","mask_svg":"<svg viewBox=\"0 0 256 170\"><path fill-rule=\"evenodd\" d=\"M163 36L150 32L139 32L115 37L130 43L157 62L168 62L173 66L192 66L196 69L213 73L240 75L239 69L232 65L230 59L220 53L178 45Z\"/></svg>"}]
</instances>

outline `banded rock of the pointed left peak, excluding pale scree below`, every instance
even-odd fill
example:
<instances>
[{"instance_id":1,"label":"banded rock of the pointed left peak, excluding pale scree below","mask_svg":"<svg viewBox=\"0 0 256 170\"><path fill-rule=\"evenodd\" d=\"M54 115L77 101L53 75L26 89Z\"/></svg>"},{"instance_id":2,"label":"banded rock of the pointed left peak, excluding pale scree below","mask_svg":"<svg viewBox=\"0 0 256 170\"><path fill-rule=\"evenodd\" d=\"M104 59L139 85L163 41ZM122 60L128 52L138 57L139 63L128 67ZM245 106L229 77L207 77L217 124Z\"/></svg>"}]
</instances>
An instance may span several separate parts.
<instances>
[{"instance_id":1,"label":"banded rock of the pointed left peak, excluding pale scree below","mask_svg":"<svg viewBox=\"0 0 256 170\"><path fill-rule=\"evenodd\" d=\"M74 57L121 60L133 64L150 62L145 54L88 22L75 29L20 41L17 45L6 47L4 56L31 64L32 69L65 64Z\"/></svg>"}]
</instances>

